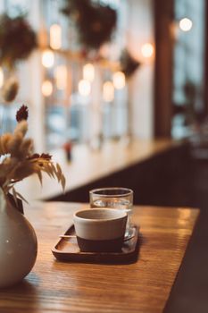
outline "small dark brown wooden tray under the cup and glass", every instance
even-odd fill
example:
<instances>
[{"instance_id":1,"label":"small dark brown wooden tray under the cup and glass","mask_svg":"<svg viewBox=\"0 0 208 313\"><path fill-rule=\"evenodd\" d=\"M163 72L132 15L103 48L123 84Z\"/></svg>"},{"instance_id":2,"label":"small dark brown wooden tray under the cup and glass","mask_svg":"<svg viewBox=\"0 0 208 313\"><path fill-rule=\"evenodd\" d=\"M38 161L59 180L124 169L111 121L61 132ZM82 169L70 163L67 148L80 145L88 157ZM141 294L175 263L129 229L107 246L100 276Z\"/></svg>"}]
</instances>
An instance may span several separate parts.
<instances>
[{"instance_id":1,"label":"small dark brown wooden tray under the cup and glass","mask_svg":"<svg viewBox=\"0 0 208 313\"><path fill-rule=\"evenodd\" d=\"M137 261L140 246L140 234L137 225L134 225L134 237L129 241L123 242L121 252L81 252L76 237L65 239L61 238L52 252L54 257L60 261L82 262L82 263L108 263L108 264L128 264ZM64 233L74 235L74 225Z\"/></svg>"}]
</instances>

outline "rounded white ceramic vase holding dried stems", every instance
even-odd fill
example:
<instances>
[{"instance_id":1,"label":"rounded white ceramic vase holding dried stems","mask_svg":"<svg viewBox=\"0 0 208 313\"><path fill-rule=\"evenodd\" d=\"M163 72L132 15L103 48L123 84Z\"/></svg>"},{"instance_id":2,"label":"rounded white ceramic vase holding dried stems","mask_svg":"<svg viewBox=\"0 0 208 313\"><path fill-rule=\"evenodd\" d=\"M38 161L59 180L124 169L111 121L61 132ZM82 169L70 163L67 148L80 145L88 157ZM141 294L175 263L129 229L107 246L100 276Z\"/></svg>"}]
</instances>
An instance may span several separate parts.
<instances>
[{"instance_id":1,"label":"rounded white ceramic vase holding dried stems","mask_svg":"<svg viewBox=\"0 0 208 313\"><path fill-rule=\"evenodd\" d=\"M29 274L37 258L37 237L29 221L0 190L0 288Z\"/></svg>"}]
</instances>

